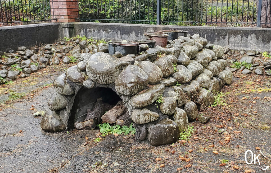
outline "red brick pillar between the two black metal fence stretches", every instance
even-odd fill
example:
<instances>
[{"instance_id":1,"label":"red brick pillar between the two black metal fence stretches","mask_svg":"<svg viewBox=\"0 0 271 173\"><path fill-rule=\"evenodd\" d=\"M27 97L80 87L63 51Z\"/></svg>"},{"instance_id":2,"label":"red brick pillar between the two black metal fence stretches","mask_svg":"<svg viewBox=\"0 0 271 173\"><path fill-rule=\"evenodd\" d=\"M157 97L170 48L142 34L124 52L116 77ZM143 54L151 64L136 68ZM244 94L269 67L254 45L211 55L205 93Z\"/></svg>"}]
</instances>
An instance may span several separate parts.
<instances>
[{"instance_id":1,"label":"red brick pillar between the two black metal fence stretches","mask_svg":"<svg viewBox=\"0 0 271 173\"><path fill-rule=\"evenodd\" d=\"M51 16L56 22L76 22L79 18L78 0L50 0Z\"/></svg>"}]
</instances>

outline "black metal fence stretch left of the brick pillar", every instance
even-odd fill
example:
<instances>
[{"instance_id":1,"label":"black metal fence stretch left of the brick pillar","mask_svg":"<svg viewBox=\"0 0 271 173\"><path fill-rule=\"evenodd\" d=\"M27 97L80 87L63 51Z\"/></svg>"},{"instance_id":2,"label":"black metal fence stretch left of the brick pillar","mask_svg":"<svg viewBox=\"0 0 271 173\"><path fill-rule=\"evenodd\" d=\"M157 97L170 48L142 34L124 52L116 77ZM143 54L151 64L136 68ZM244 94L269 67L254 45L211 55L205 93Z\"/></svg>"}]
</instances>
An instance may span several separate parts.
<instances>
[{"instance_id":1,"label":"black metal fence stretch left of the brick pillar","mask_svg":"<svg viewBox=\"0 0 271 173\"><path fill-rule=\"evenodd\" d=\"M0 0L0 26L52 20L49 0Z\"/></svg>"}]
</instances>

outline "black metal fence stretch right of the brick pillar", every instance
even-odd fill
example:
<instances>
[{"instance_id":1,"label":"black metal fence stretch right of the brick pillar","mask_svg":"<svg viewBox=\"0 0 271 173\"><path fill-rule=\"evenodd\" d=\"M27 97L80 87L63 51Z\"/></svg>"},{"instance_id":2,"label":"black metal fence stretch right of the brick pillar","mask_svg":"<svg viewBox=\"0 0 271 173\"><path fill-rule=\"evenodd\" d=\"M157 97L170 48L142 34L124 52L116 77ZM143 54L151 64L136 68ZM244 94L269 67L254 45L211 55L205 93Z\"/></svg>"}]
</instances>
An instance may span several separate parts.
<instances>
[{"instance_id":1,"label":"black metal fence stretch right of the brick pillar","mask_svg":"<svg viewBox=\"0 0 271 173\"><path fill-rule=\"evenodd\" d=\"M271 0L79 0L80 21L270 27Z\"/></svg>"}]
</instances>

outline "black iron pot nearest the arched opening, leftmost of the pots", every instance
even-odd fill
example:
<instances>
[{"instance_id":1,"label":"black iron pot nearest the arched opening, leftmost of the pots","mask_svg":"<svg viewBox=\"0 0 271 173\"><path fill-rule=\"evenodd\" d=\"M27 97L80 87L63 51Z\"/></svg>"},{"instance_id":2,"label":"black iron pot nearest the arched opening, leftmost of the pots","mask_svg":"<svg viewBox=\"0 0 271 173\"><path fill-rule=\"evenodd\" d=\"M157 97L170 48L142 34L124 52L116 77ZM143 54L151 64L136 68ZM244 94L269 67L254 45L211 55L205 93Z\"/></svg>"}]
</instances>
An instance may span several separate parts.
<instances>
[{"instance_id":1,"label":"black iron pot nearest the arched opening, leftmost of the pots","mask_svg":"<svg viewBox=\"0 0 271 173\"><path fill-rule=\"evenodd\" d=\"M137 54L138 43L132 41L109 41L108 52L110 55L114 55L115 52L121 52L122 55Z\"/></svg>"}]
</instances>

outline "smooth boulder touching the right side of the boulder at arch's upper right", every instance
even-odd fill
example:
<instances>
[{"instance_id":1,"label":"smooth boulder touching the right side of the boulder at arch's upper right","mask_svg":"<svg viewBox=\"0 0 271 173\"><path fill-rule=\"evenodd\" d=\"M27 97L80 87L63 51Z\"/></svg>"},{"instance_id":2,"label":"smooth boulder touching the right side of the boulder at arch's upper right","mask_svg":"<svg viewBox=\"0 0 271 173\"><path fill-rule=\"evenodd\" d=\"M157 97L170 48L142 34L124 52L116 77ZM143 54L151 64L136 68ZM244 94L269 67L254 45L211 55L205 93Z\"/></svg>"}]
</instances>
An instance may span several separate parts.
<instances>
[{"instance_id":1,"label":"smooth boulder touching the right side of the boulder at arch's upper right","mask_svg":"<svg viewBox=\"0 0 271 173\"><path fill-rule=\"evenodd\" d=\"M149 75L149 84L157 84L163 78L160 68L150 61L141 61L140 68Z\"/></svg>"}]
</instances>

